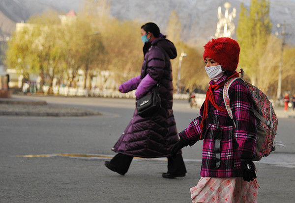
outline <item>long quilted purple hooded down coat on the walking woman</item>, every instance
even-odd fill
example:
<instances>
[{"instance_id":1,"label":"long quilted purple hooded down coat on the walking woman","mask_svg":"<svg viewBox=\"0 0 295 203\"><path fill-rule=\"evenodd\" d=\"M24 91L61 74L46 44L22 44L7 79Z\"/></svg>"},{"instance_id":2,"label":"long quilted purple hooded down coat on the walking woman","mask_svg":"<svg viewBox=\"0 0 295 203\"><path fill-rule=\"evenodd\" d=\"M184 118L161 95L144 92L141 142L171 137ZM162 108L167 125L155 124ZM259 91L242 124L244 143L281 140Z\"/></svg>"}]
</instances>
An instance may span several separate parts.
<instances>
[{"instance_id":1,"label":"long quilted purple hooded down coat on the walking woman","mask_svg":"<svg viewBox=\"0 0 295 203\"><path fill-rule=\"evenodd\" d=\"M161 47L165 53L157 46ZM140 78L139 76L134 77L121 84L120 89L128 92L140 87L141 91L137 92L136 95L144 96L149 94L155 87L157 81L159 81L162 108L146 118L137 115L135 108L129 125L112 150L117 153L142 158L167 157L170 156L173 145L179 140L172 110L173 77L170 62L170 59L176 58L177 51L174 44L169 40L156 38L145 44L144 53L145 58ZM149 76L143 79L145 77L146 57L148 57L147 74ZM129 89L126 90L126 88Z\"/></svg>"}]
</instances>

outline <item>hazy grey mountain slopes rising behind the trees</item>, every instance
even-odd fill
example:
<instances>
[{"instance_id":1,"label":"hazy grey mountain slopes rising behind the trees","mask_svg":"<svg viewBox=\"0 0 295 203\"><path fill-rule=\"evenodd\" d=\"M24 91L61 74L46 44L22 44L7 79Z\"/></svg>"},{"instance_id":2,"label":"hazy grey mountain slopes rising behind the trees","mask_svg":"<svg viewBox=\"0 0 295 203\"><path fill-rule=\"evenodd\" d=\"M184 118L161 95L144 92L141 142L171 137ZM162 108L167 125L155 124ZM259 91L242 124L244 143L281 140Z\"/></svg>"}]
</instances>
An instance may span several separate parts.
<instances>
[{"instance_id":1,"label":"hazy grey mountain slopes rising behind the trees","mask_svg":"<svg viewBox=\"0 0 295 203\"><path fill-rule=\"evenodd\" d=\"M47 9L68 12L77 11L82 0L0 0L0 37L10 35L17 22L26 21L30 16L42 13ZM182 40L191 45L204 44L210 36L214 36L218 22L217 9L230 2L232 12L236 8L234 23L237 26L240 4L249 7L251 0L110 0L111 14L119 19L155 22L165 34L169 16L175 10L181 21ZM295 44L295 0L270 0L270 20L272 32L281 32L276 24L284 23L288 43ZM168 36L169 37L169 36ZM236 38L234 35L233 38Z\"/></svg>"}]
</instances>

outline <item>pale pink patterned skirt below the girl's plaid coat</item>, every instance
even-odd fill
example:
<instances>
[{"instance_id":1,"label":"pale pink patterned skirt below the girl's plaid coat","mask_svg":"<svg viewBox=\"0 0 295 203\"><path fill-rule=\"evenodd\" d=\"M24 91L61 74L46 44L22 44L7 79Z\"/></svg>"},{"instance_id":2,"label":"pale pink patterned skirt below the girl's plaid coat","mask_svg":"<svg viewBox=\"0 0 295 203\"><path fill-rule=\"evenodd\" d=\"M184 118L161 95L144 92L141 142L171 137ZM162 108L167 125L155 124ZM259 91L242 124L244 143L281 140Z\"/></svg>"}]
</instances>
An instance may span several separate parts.
<instances>
[{"instance_id":1,"label":"pale pink patterned skirt below the girl's plaid coat","mask_svg":"<svg viewBox=\"0 0 295 203\"><path fill-rule=\"evenodd\" d=\"M256 203L258 187L256 179L201 177L190 191L192 203Z\"/></svg>"}]
</instances>

